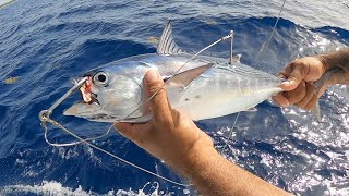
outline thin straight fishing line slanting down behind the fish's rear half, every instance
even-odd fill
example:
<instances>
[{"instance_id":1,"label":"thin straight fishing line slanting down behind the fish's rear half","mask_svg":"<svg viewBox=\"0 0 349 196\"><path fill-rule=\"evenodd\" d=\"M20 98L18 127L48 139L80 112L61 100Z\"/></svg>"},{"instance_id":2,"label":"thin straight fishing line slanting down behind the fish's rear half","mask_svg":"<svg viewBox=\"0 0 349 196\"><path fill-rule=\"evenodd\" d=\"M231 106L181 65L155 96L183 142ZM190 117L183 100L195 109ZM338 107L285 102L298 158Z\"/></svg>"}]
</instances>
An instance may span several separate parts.
<instances>
[{"instance_id":1,"label":"thin straight fishing line slanting down behind the fish's rear half","mask_svg":"<svg viewBox=\"0 0 349 196\"><path fill-rule=\"evenodd\" d=\"M273 30L272 30L269 37L268 37L268 38L263 42L263 45L262 45L262 49L261 49L260 56L257 57L257 66L261 64L261 60L262 60L262 57L263 57L263 54L264 54L264 52L265 52L265 49L268 47L268 45L269 45L269 42L270 42L270 40L272 40L272 37L273 37L274 34L275 34L276 26L277 26L277 24L278 24L278 22L279 22L279 20L280 20L282 10L284 10L284 8L285 8L285 3L286 3L286 0L284 0L284 2L282 2L281 9L280 9L280 11L279 11L279 14L277 15L277 20L276 20L276 22L275 22L275 24L274 24L274 27L273 27ZM266 44L266 45L265 45L265 44ZM238 121L238 119L239 119L240 112L241 112L241 111L239 111L238 114L237 114L237 117L236 117L236 120L234 120L234 122L233 122L233 124L232 124L232 127L231 127L231 130L230 130L230 133L228 134L227 142L226 142L226 144L224 145L224 147L221 148L220 154L224 154L224 150L225 150L226 147L228 146L228 143L229 143L229 140L230 140L230 137L232 136L232 132L233 132L233 130L234 130L234 127L236 127L236 123L237 123L237 121Z\"/></svg>"}]
</instances>

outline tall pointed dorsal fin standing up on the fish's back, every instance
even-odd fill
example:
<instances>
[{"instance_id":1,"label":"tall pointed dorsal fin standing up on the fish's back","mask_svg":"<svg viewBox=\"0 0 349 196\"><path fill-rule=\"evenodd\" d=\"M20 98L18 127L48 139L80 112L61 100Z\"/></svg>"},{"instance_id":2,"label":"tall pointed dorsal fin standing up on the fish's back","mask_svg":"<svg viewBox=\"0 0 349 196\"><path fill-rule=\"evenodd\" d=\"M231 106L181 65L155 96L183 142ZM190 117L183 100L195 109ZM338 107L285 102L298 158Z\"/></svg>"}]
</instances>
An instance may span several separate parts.
<instances>
[{"instance_id":1,"label":"tall pointed dorsal fin standing up on the fish's back","mask_svg":"<svg viewBox=\"0 0 349 196\"><path fill-rule=\"evenodd\" d=\"M164 28L163 35L156 49L156 52L158 54L182 53L182 50L174 42L171 23L171 21L167 22Z\"/></svg>"}]
</instances>

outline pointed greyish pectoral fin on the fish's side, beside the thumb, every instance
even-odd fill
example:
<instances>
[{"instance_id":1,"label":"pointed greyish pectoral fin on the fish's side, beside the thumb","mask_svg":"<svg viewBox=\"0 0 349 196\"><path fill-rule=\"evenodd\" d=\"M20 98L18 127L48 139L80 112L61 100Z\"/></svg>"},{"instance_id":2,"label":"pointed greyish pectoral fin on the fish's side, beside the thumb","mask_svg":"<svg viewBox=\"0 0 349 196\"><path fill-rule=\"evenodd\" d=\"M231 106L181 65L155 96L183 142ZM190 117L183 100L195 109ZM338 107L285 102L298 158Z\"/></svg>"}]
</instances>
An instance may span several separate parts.
<instances>
[{"instance_id":1,"label":"pointed greyish pectoral fin on the fish's side, beside the thumb","mask_svg":"<svg viewBox=\"0 0 349 196\"><path fill-rule=\"evenodd\" d=\"M214 63L209 63L176 74L171 78L169 78L170 81L167 83L167 85L176 87L186 87L192 81L197 78L201 74L203 74L206 70L210 69L213 65Z\"/></svg>"}]
</instances>

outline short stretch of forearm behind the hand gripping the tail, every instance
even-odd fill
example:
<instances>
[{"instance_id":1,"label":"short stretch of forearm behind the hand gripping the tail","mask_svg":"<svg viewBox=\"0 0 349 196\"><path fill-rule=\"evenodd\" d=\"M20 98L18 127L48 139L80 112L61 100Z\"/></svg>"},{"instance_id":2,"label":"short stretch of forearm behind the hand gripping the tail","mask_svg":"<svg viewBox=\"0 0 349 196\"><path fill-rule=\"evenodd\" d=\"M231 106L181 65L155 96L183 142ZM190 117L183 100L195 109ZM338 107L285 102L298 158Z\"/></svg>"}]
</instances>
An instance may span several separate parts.
<instances>
[{"instance_id":1,"label":"short stretch of forearm behind the hand gripping the tail","mask_svg":"<svg viewBox=\"0 0 349 196\"><path fill-rule=\"evenodd\" d=\"M325 70L341 69L330 78L330 84L349 84L349 48L316 57L323 62Z\"/></svg>"}]
</instances>

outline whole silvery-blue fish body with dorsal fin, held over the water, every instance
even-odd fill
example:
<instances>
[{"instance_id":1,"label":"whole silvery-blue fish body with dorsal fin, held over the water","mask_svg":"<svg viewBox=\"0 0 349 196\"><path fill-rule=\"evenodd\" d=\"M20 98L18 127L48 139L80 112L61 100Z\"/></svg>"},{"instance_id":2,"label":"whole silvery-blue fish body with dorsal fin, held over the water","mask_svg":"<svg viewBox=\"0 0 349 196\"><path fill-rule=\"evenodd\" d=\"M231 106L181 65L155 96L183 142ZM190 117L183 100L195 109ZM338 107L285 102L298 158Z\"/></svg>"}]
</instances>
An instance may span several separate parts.
<instances>
[{"instance_id":1,"label":"whole silvery-blue fish body with dorsal fin, held over the water","mask_svg":"<svg viewBox=\"0 0 349 196\"><path fill-rule=\"evenodd\" d=\"M191 57L176 45L168 23L157 53L121 59L84 74L89 85L82 94L91 99L73 105L64 114L99 122L149 120L142 81L151 69L164 81L171 78L165 86L170 105L193 120L244 111L282 91L280 78L242 64L239 58L229 63L207 56L188 61Z\"/></svg>"}]
</instances>

